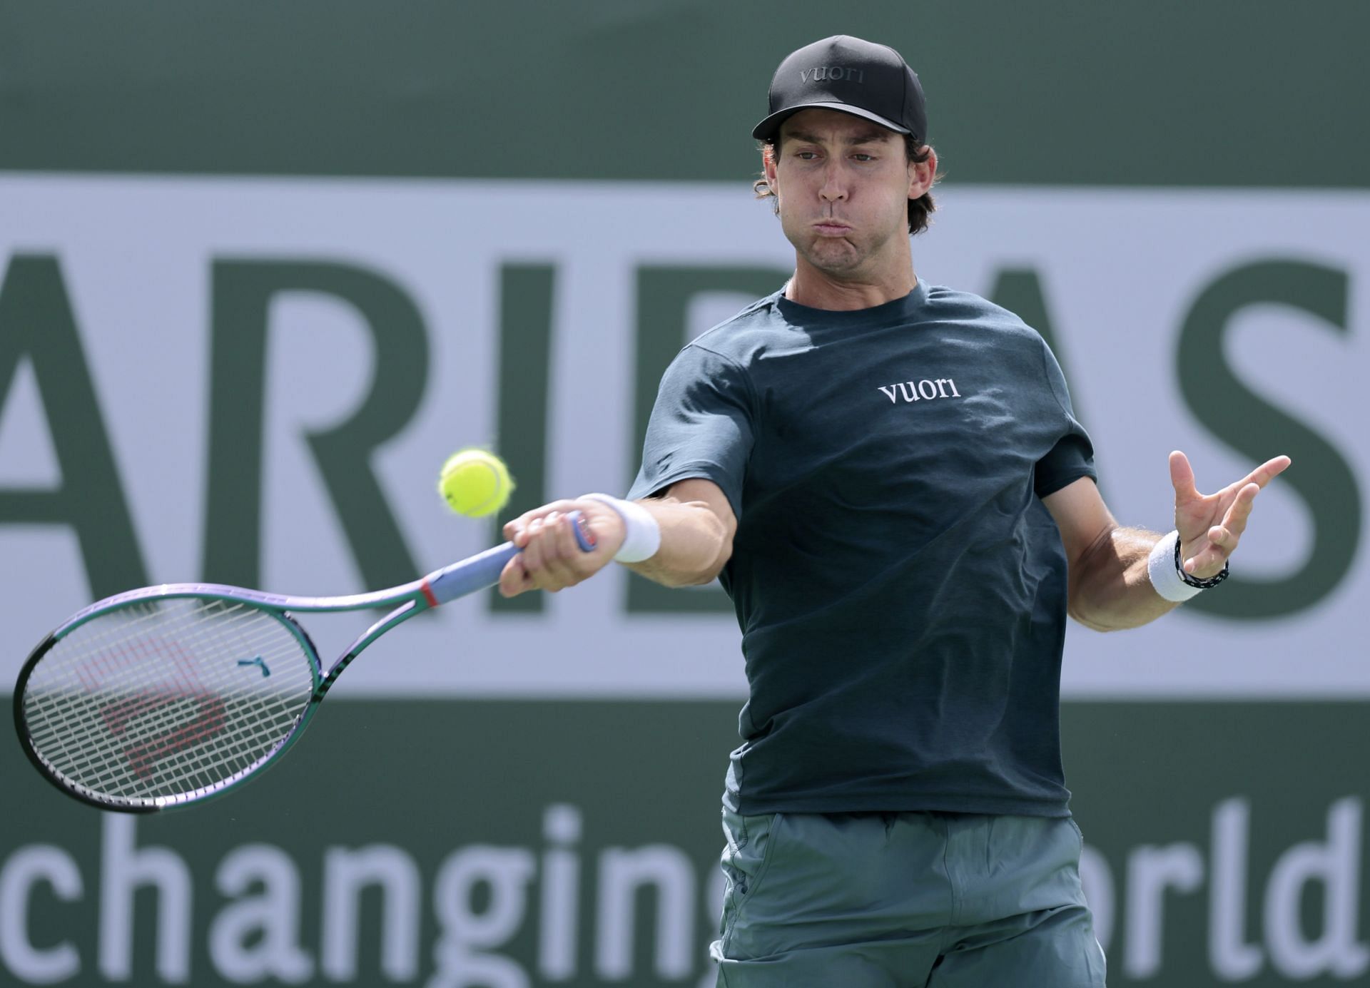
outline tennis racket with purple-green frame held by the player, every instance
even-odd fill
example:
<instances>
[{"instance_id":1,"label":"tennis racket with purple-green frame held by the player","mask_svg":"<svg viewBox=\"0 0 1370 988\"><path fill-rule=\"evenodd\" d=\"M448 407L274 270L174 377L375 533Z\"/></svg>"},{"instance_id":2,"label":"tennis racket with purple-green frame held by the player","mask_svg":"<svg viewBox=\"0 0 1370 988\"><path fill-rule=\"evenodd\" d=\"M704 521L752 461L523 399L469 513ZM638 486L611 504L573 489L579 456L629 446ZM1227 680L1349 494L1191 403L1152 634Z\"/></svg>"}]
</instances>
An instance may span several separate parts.
<instances>
[{"instance_id":1,"label":"tennis racket with purple-green frame held by the player","mask_svg":"<svg viewBox=\"0 0 1370 988\"><path fill-rule=\"evenodd\" d=\"M595 536L570 512L581 549ZM512 543L374 593L292 597L164 584L105 597L33 650L14 691L25 754L104 810L153 813L242 784L284 755L338 676L415 614L499 582ZM327 670L292 611L392 607Z\"/></svg>"}]
</instances>

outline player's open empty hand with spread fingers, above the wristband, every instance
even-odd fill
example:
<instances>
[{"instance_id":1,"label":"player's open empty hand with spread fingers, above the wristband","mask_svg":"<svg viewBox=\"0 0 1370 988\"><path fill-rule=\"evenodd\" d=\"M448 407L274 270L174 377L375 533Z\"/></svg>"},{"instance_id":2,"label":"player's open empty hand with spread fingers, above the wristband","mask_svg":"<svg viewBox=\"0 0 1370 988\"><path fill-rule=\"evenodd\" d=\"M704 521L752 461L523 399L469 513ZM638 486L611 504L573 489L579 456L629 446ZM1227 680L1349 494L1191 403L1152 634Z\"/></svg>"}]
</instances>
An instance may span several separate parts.
<instances>
[{"instance_id":1,"label":"player's open empty hand with spread fingers, above the wristband","mask_svg":"<svg viewBox=\"0 0 1370 988\"><path fill-rule=\"evenodd\" d=\"M1207 580L1222 571L1247 530L1251 506L1260 488L1284 473L1291 462L1288 456L1275 456L1218 493L1201 495L1195 488L1189 458L1178 449L1170 454L1175 530L1180 532L1180 559L1185 573Z\"/></svg>"}]
</instances>

